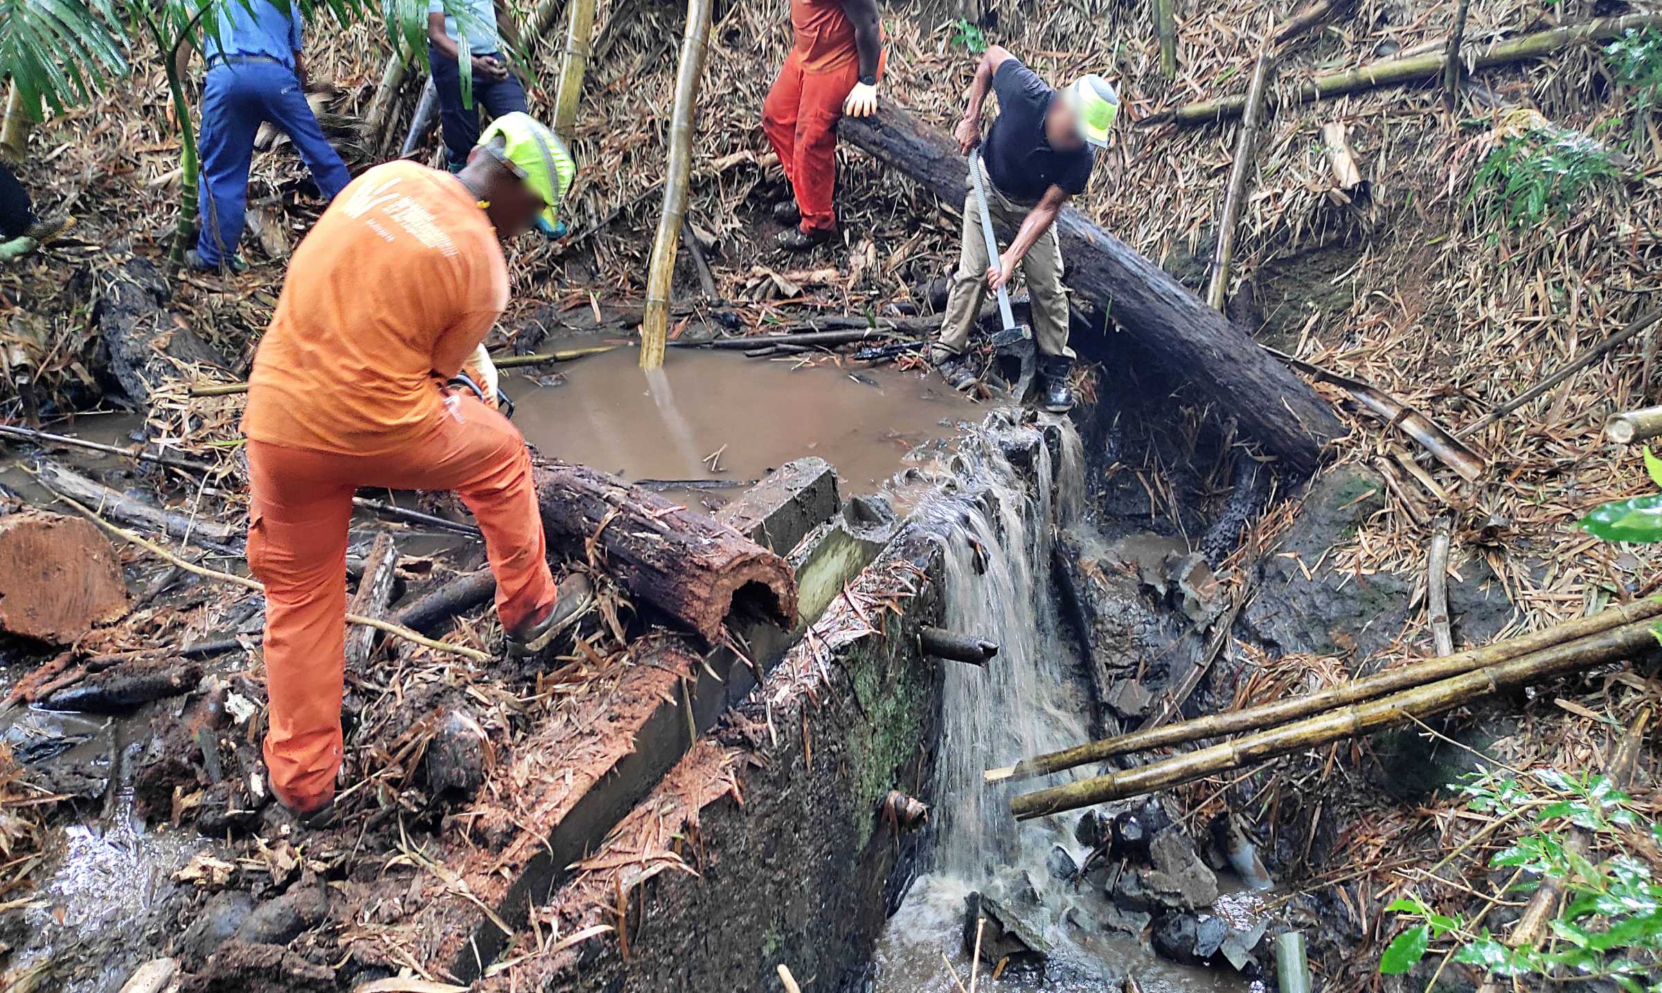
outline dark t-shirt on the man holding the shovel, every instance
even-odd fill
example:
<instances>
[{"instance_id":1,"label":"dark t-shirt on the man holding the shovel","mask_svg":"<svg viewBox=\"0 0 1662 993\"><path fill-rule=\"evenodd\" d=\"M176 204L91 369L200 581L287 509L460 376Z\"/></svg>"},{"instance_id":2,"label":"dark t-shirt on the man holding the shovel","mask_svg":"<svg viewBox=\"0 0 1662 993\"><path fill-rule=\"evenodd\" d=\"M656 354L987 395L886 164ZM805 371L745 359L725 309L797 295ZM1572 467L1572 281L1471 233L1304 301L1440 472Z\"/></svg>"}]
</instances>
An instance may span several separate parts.
<instances>
[{"instance_id":1,"label":"dark t-shirt on the man holding the shovel","mask_svg":"<svg viewBox=\"0 0 1662 993\"><path fill-rule=\"evenodd\" d=\"M1039 203L1052 186L1070 194L1085 193L1097 153L1089 144L1057 151L1044 133L1055 90L1020 61L1006 58L992 75L992 91L999 96L999 116L982 144L981 161L999 193L1029 204Z\"/></svg>"}]
</instances>

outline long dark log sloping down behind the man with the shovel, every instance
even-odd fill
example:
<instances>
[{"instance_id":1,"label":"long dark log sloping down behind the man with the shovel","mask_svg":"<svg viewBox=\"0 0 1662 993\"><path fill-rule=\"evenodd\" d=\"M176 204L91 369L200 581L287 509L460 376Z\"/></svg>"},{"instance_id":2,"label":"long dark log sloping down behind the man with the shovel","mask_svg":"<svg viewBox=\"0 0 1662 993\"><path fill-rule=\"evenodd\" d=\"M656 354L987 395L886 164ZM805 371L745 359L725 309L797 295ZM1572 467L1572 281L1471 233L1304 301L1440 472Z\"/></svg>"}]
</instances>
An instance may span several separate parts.
<instances>
[{"instance_id":1,"label":"long dark log sloping down behind the man with the shovel","mask_svg":"<svg viewBox=\"0 0 1662 993\"><path fill-rule=\"evenodd\" d=\"M843 118L839 135L947 203L962 203L966 161L939 130L884 101L876 115ZM1067 208L1055 223L1069 286L1112 317L1145 352L1235 417L1242 432L1295 472L1311 472L1321 447L1345 433L1308 384L1288 372L1205 301L1125 242ZM1012 232L1002 231L1004 237Z\"/></svg>"}]
</instances>

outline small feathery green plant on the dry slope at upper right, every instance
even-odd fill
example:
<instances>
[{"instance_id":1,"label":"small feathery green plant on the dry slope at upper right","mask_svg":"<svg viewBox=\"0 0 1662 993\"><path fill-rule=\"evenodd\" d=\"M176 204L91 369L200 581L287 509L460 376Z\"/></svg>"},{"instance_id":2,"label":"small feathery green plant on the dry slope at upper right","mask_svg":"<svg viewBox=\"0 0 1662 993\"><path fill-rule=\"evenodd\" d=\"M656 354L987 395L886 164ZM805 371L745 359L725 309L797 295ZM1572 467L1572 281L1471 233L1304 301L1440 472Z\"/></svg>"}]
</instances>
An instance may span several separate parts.
<instances>
[{"instance_id":1,"label":"small feathery green plant on the dry slope at upper right","mask_svg":"<svg viewBox=\"0 0 1662 993\"><path fill-rule=\"evenodd\" d=\"M1489 151L1466 203L1522 231L1567 214L1587 189L1619 174L1609 149L1586 135L1536 128Z\"/></svg>"}]
</instances>

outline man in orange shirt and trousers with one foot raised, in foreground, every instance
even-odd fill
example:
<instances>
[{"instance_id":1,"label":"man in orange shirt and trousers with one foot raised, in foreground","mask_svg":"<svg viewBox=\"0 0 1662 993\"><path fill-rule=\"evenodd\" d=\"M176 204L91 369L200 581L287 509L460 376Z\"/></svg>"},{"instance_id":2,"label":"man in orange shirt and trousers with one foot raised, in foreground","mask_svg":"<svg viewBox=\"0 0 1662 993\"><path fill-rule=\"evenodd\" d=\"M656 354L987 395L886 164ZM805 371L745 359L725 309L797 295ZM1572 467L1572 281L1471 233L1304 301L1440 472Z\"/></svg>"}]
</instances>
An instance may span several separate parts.
<instances>
[{"instance_id":1,"label":"man in orange shirt and trousers with one foot raised, in foreground","mask_svg":"<svg viewBox=\"0 0 1662 993\"><path fill-rule=\"evenodd\" d=\"M553 223L575 164L524 113L497 118L457 174L369 169L289 262L249 375L248 563L266 585L266 767L307 825L341 769L346 541L359 487L455 490L479 520L510 654L592 603L555 586L530 455L492 408L482 342L509 301L502 241ZM472 365L484 402L444 384Z\"/></svg>"}]
</instances>

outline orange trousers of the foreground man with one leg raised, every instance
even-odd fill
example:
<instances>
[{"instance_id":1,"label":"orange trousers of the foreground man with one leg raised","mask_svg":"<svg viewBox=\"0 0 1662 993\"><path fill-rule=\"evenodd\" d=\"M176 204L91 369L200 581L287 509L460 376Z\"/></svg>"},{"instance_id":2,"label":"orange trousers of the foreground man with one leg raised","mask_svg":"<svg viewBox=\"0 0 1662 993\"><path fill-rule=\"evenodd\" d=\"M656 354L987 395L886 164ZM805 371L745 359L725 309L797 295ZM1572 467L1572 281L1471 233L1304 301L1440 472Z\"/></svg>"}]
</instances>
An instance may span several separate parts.
<instances>
[{"instance_id":1,"label":"orange trousers of the foreground man with one leg raised","mask_svg":"<svg viewBox=\"0 0 1662 993\"><path fill-rule=\"evenodd\" d=\"M525 440L472 397L452 397L432 430L387 455L337 455L248 442L248 565L266 585L266 769L294 810L334 797L346 668L346 528L359 487L455 490L485 533L504 628L558 596Z\"/></svg>"}]
</instances>

